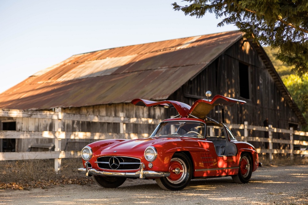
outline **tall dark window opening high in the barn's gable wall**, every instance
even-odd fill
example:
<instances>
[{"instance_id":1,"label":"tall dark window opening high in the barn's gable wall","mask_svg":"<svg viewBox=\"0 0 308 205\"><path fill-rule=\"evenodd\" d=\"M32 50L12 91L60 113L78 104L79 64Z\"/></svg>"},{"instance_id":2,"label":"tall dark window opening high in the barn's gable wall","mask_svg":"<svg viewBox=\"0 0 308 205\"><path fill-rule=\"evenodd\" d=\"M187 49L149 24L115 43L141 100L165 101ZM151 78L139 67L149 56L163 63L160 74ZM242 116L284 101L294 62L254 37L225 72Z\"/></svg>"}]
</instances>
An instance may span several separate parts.
<instances>
[{"instance_id":1,"label":"tall dark window opening high in the barn's gable wall","mask_svg":"<svg viewBox=\"0 0 308 205\"><path fill-rule=\"evenodd\" d=\"M248 65L245 65L239 62L239 78L240 78L240 96L246 99L249 97L249 68Z\"/></svg>"}]
</instances>

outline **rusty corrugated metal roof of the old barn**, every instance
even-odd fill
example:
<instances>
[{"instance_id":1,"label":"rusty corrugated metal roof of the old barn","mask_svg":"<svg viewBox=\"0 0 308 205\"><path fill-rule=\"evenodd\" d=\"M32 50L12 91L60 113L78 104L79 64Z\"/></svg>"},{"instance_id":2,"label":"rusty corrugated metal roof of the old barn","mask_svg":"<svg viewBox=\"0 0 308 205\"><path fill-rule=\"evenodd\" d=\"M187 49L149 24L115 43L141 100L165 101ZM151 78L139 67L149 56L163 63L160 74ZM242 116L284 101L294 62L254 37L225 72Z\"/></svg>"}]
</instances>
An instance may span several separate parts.
<instances>
[{"instance_id":1,"label":"rusty corrugated metal roof of the old barn","mask_svg":"<svg viewBox=\"0 0 308 205\"><path fill-rule=\"evenodd\" d=\"M74 55L1 93L0 108L163 100L241 37L230 31Z\"/></svg>"}]
</instances>

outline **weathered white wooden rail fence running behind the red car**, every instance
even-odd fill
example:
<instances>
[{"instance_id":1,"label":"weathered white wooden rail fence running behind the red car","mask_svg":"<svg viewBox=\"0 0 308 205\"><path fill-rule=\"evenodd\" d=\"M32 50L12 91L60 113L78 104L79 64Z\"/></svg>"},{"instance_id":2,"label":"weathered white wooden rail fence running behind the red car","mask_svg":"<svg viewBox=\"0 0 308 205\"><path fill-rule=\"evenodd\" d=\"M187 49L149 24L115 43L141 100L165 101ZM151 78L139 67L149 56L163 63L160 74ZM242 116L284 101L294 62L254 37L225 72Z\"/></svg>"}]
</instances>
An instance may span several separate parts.
<instances>
[{"instance_id":1,"label":"weathered white wooden rail fence running behind the red car","mask_svg":"<svg viewBox=\"0 0 308 205\"><path fill-rule=\"evenodd\" d=\"M137 139L148 137L149 133L135 134L126 133L126 123L137 124L158 124L160 120L149 118L128 118L121 113L120 117L113 116L97 116L97 115L81 115L61 112L61 108L56 108L55 112L48 111L29 111L29 110L15 110L15 109L0 109L0 117L21 117L21 118L43 118L43 119L55 119L58 123L55 123L55 131L0 131L0 139L35 139L35 138L51 138L54 139L55 151L52 152L0 152L1 160L34 160L34 159L55 159L55 171L58 172L61 166L61 159L63 158L76 158L80 157L80 151L63 151L61 150L62 139ZM91 133L91 132L63 132L61 130L62 120L79 120L79 121L91 121L91 122L113 122L120 124L120 133ZM294 145L308 146L307 141L294 140L294 135L306 136L308 138L308 132L294 131L292 129L281 129L269 127L252 126L245 124L227 124L229 128L235 130L244 130L244 136L237 137L237 140L252 141L252 142L268 142L269 149L257 149L258 153L269 153L270 160L273 159L275 153L287 153L291 158L294 154L308 155L307 150L294 150ZM269 132L269 138L259 136L248 136L249 130L267 131ZM288 133L290 135L289 140L273 139L273 132ZM236 135L236 133L235 133ZM273 143L290 144L290 149L273 149Z\"/></svg>"}]
</instances>

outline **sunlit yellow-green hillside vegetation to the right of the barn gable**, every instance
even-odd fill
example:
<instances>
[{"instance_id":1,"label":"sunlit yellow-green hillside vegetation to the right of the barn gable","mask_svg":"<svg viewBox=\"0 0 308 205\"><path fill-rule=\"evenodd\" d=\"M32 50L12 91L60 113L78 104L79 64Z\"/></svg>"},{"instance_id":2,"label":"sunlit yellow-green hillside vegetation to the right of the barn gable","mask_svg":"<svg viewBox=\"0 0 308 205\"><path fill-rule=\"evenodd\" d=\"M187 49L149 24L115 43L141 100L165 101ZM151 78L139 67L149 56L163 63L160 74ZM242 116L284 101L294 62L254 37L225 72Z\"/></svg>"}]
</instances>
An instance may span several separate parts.
<instances>
[{"instance_id":1,"label":"sunlit yellow-green hillside vegetation to the right of the barn gable","mask_svg":"<svg viewBox=\"0 0 308 205\"><path fill-rule=\"evenodd\" d=\"M308 75L298 77L292 72L292 67L277 60L274 55L278 52L278 49L271 49L271 47L263 47L263 49L272 61L277 73L281 77L293 100L298 105L298 108L308 121L308 108L303 105L299 98L301 95L308 93ZM303 128L303 131L308 131L308 127L306 126Z\"/></svg>"}]
</instances>

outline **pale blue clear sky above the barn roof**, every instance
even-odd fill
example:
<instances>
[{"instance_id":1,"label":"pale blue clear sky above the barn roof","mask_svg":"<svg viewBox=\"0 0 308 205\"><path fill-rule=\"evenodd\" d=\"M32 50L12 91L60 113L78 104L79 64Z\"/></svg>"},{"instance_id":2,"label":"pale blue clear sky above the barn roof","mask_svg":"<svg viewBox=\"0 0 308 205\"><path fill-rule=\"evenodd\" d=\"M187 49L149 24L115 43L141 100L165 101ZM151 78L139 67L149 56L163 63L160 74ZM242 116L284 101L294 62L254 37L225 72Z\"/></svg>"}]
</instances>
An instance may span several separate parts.
<instances>
[{"instance_id":1,"label":"pale blue clear sky above the barn roof","mask_svg":"<svg viewBox=\"0 0 308 205\"><path fill-rule=\"evenodd\" d=\"M0 93L74 54L237 30L176 0L0 0Z\"/></svg>"}]
</instances>

